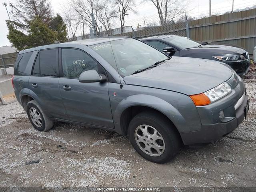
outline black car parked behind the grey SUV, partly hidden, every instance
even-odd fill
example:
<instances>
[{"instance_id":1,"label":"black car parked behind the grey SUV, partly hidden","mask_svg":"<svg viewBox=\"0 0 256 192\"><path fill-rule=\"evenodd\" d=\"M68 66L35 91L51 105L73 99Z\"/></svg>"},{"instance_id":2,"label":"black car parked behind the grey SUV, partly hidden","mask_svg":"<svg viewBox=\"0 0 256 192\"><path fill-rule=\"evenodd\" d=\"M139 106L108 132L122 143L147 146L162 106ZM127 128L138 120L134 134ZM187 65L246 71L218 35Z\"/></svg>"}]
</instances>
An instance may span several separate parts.
<instances>
[{"instance_id":1,"label":"black car parked behind the grey SUV, partly hidden","mask_svg":"<svg viewBox=\"0 0 256 192\"><path fill-rule=\"evenodd\" d=\"M242 76L250 70L250 57L240 46L217 43L198 43L178 35L160 35L140 39L168 55L221 61Z\"/></svg>"}]
</instances>

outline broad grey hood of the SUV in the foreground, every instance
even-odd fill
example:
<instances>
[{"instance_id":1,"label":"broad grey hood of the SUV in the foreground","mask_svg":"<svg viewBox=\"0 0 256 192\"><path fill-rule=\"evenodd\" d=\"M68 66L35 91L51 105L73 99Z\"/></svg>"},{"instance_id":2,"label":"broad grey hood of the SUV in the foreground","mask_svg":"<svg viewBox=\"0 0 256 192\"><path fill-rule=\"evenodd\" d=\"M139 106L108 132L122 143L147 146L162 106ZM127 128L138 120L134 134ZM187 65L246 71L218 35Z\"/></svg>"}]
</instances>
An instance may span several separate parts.
<instances>
[{"instance_id":1,"label":"broad grey hood of the SUV in the foreground","mask_svg":"<svg viewBox=\"0 0 256 192\"><path fill-rule=\"evenodd\" d=\"M194 95L214 88L232 74L232 68L221 62L172 57L159 66L124 77L124 82Z\"/></svg>"}]
</instances>

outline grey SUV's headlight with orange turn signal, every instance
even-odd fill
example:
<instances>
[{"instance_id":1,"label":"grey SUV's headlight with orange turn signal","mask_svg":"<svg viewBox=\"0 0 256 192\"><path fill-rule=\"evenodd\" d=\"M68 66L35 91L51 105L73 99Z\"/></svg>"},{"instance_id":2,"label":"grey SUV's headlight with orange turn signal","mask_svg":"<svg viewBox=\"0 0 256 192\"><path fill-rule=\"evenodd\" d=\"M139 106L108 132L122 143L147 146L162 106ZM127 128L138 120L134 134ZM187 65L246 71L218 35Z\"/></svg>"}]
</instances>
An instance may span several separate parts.
<instances>
[{"instance_id":1,"label":"grey SUV's headlight with orange turn signal","mask_svg":"<svg viewBox=\"0 0 256 192\"><path fill-rule=\"evenodd\" d=\"M227 95L229 92L231 92L231 87L228 83L224 82L211 90L208 90L204 93L196 94L196 95L190 95L190 98L194 102L196 106L203 106L208 105L225 95Z\"/></svg>"}]
</instances>

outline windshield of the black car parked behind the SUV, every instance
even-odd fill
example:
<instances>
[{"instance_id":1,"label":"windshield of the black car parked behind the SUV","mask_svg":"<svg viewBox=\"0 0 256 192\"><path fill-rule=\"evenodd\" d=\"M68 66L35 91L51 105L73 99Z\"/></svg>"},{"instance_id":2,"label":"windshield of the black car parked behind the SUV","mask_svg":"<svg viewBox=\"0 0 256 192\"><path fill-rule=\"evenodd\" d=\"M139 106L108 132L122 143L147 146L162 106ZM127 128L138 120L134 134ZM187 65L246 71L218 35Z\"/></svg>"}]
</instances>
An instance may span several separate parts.
<instances>
[{"instance_id":1,"label":"windshield of the black car parked behind the SUV","mask_svg":"<svg viewBox=\"0 0 256 192\"><path fill-rule=\"evenodd\" d=\"M179 49L187 49L192 47L198 47L200 43L195 42L187 37L181 37L181 36L172 36L168 38L164 38L164 41L170 42L175 47Z\"/></svg>"}]
</instances>

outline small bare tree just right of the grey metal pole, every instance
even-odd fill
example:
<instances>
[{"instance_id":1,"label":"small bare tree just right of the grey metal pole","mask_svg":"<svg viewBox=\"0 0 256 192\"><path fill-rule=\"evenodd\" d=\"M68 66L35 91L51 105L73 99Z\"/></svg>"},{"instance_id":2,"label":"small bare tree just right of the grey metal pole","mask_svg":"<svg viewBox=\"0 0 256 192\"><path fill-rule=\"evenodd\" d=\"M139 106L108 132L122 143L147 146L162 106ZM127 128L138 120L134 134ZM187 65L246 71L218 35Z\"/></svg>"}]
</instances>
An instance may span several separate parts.
<instances>
[{"instance_id":1,"label":"small bare tree just right of the grey metal pole","mask_svg":"<svg viewBox=\"0 0 256 192\"><path fill-rule=\"evenodd\" d=\"M117 17L116 14L117 11L109 0L106 0L102 5L102 8L99 10L98 21L103 25L108 35L111 35L111 24L113 24L111 21Z\"/></svg>"}]
</instances>

